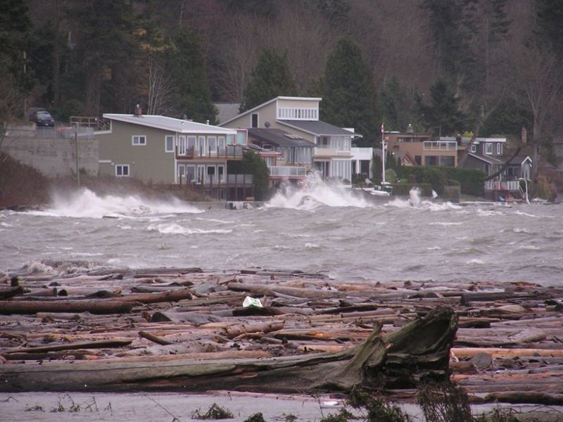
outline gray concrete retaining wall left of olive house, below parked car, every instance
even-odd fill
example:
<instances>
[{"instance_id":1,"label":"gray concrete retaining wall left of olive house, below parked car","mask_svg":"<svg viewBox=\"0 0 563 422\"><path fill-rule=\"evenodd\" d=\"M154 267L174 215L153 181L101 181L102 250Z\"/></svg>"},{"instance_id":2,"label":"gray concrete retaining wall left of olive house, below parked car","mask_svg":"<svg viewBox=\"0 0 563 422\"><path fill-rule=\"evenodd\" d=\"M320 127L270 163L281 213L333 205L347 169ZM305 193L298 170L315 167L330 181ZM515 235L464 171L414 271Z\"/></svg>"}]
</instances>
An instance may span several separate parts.
<instances>
[{"instance_id":1,"label":"gray concrete retaining wall left of olive house, below parked car","mask_svg":"<svg viewBox=\"0 0 563 422\"><path fill-rule=\"evenodd\" d=\"M2 151L30 165L47 177L67 176L76 170L74 138L27 138L6 136ZM81 172L98 174L98 141L78 138L78 167Z\"/></svg>"}]
</instances>

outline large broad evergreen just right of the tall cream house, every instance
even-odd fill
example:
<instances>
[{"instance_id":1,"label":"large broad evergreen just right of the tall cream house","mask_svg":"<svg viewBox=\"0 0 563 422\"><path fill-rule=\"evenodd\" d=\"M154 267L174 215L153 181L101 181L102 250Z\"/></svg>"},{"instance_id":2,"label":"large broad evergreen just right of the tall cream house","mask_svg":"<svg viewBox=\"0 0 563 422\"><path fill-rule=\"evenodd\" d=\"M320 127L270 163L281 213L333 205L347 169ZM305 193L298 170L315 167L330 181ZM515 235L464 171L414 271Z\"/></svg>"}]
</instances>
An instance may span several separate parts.
<instances>
[{"instance_id":1,"label":"large broad evergreen just right of the tall cream house","mask_svg":"<svg viewBox=\"0 0 563 422\"><path fill-rule=\"evenodd\" d=\"M329 55L324 71L322 120L339 127L354 127L361 143L377 139L376 98L372 72L354 41L343 38Z\"/></svg>"}]
</instances>

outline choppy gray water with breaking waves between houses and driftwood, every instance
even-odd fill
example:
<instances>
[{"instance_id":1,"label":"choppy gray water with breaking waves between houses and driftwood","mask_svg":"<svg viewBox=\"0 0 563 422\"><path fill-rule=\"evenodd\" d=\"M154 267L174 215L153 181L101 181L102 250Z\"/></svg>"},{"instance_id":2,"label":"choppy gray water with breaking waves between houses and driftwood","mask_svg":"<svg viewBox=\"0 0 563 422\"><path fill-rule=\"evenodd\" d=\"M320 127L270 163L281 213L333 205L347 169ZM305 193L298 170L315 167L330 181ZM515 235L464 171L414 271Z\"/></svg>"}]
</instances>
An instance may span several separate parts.
<instances>
[{"instance_id":1,"label":"choppy gray water with breaking waves between houses and driftwood","mask_svg":"<svg viewBox=\"0 0 563 422\"><path fill-rule=\"evenodd\" d=\"M0 212L0 270L79 267L302 269L337 280L561 282L562 205L369 200L317 185L255 210L99 197ZM113 218L103 218L113 217Z\"/></svg>"}]
</instances>

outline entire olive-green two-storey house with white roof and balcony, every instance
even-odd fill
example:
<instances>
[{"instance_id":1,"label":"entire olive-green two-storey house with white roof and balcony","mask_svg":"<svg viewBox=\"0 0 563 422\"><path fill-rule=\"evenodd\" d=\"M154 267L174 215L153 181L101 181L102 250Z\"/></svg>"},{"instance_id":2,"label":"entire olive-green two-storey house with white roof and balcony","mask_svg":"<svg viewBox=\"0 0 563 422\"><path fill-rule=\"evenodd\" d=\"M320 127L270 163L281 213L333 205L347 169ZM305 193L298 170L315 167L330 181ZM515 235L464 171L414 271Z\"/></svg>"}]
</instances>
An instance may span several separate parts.
<instances>
[{"instance_id":1,"label":"entire olive-green two-storey house with white roof and balcony","mask_svg":"<svg viewBox=\"0 0 563 422\"><path fill-rule=\"evenodd\" d=\"M109 129L99 141L99 174L156 184L191 184L217 199L236 200L251 191L252 177L227 174L229 160L242 160L246 130L161 115L104 114Z\"/></svg>"}]
</instances>

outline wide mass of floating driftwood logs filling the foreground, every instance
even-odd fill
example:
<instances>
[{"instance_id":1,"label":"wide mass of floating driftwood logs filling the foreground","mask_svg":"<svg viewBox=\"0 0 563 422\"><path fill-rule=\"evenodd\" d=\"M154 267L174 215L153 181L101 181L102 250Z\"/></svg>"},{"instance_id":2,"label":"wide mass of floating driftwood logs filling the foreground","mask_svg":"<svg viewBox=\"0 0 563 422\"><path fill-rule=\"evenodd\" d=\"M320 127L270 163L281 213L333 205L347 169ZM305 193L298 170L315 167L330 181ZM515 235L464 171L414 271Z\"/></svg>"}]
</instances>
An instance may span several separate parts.
<instances>
[{"instance_id":1,"label":"wide mass of floating driftwood logs filling the foreground","mask_svg":"<svg viewBox=\"0 0 563 422\"><path fill-rule=\"evenodd\" d=\"M408 398L449 378L475 401L563 404L561 298L531 283L291 270L20 270L0 279L0 391L361 384Z\"/></svg>"}]
</instances>

